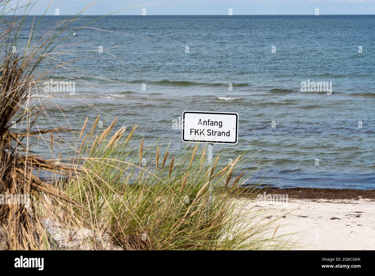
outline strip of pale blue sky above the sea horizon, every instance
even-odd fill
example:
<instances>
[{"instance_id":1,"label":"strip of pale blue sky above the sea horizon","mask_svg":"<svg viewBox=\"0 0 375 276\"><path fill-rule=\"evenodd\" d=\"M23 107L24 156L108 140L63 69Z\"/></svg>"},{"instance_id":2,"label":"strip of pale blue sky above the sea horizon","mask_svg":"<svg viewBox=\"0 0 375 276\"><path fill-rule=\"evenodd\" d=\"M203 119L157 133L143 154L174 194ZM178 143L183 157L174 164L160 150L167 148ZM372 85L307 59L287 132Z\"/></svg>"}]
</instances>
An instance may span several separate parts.
<instances>
[{"instance_id":1,"label":"strip of pale blue sky above the sea horizon","mask_svg":"<svg viewBox=\"0 0 375 276\"><path fill-rule=\"evenodd\" d=\"M22 1L22 0L19 0ZM39 0L30 14L40 15L51 0ZM92 3L92 0L54 0L46 14L54 15L55 8L60 15L73 15ZM142 4L150 4L138 6ZM138 6L138 7L133 7ZM130 9L125 9L129 8ZM318 8L320 15L327 14L375 14L375 0L98 0L84 14L104 15L120 9L117 15L314 15Z\"/></svg>"}]
</instances>

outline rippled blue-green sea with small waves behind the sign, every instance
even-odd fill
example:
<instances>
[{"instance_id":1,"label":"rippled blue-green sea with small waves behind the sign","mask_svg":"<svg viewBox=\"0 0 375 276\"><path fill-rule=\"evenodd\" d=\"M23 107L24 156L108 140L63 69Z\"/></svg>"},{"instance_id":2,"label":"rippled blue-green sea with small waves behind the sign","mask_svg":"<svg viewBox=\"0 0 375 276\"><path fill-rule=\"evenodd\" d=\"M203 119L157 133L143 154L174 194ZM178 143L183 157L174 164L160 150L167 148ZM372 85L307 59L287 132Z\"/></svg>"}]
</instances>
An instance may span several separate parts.
<instances>
[{"instance_id":1,"label":"rippled blue-green sea with small waves behind the sign","mask_svg":"<svg viewBox=\"0 0 375 276\"><path fill-rule=\"evenodd\" d=\"M64 19L43 18L33 39ZM117 117L146 145L183 150L172 127L183 111L236 112L239 142L214 146L225 162L260 161L254 177L272 186L375 189L374 15L86 16L70 31L54 50L70 66L46 77L74 76L75 95L46 105L60 125L53 103L77 129ZM332 82L332 94L301 92L308 80Z\"/></svg>"}]
</instances>

